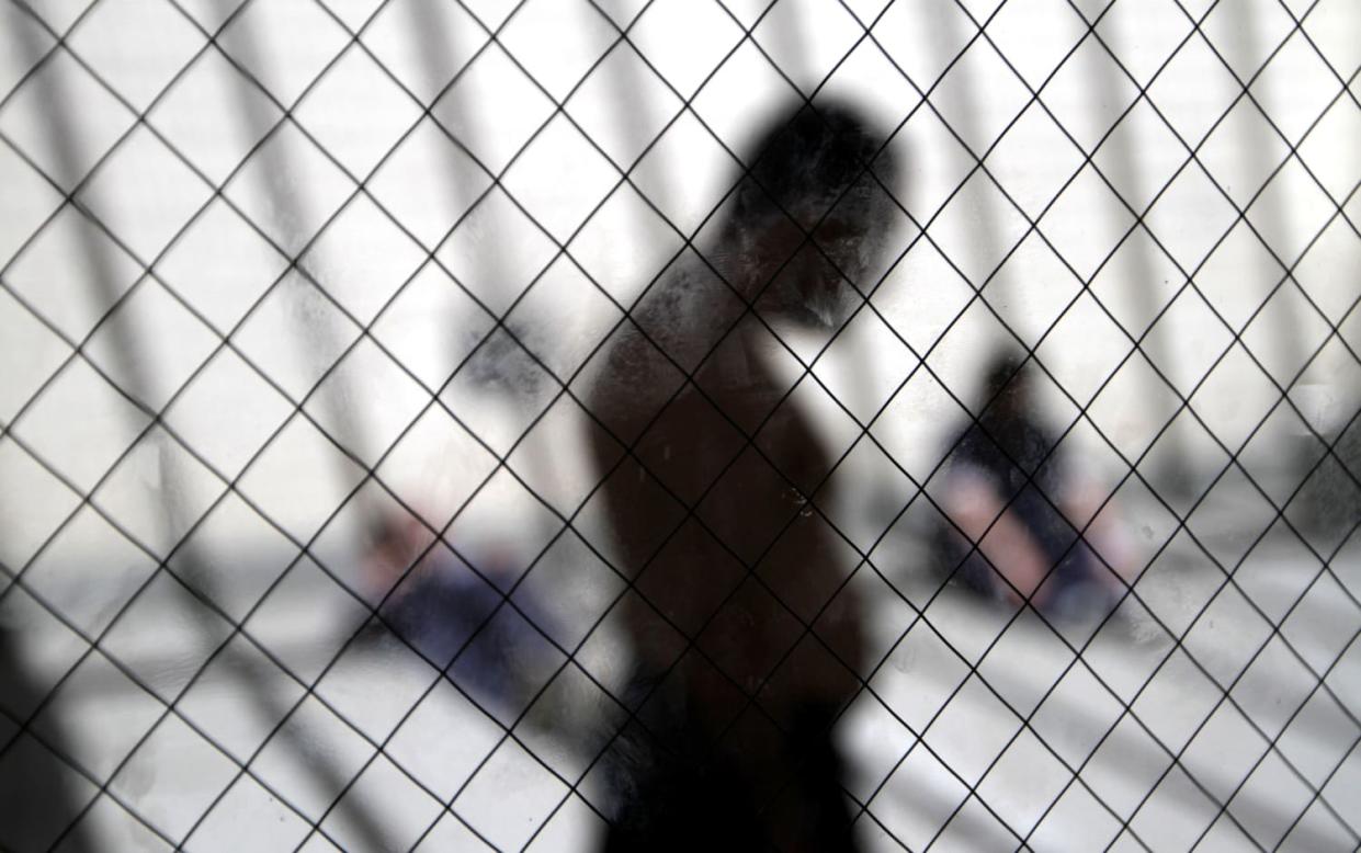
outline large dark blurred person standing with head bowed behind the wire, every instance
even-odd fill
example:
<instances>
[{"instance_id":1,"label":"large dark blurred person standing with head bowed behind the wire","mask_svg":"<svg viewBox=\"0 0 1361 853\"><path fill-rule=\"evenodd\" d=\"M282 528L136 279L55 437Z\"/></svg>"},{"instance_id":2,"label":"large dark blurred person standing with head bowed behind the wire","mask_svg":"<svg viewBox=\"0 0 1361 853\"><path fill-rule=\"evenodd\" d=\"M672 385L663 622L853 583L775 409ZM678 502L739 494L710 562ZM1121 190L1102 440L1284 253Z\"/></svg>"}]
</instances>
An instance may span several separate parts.
<instances>
[{"instance_id":1,"label":"large dark blurred person standing with head bowed behind the wire","mask_svg":"<svg viewBox=\"0 0 1361 853\"><path fill-rule=\"evenodd\" d=\"M637 712L606 758L608 850L852 848L830 725L860 684L857 561L772 329L830 335L872 284L882 143L841 105L777 118L600 356L588 405L618 441L593 439L596 499L633 581L615 616Z\"/></svg>"}]
</instances>

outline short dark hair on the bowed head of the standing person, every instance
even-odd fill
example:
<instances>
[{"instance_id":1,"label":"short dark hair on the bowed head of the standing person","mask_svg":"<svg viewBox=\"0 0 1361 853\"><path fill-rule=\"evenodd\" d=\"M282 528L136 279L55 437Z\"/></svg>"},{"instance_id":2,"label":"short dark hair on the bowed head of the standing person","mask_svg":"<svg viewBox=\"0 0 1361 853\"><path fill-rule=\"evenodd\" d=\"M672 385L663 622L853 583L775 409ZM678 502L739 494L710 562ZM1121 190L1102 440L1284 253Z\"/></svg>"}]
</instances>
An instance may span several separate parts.
<instances>
[{"instance_id":1,"label":"short dark hair on the bowed head of the standing person","mask_svg":"<svg viewBox=\"0 0 1361 853\"><path fill-rule=\"evenodd\" d=\"M810 227L849 189L891 186L897 163L886 135L847 103L802 103L781 112L755 139L738 189L735 219L792 214ZM874 177L868 177L868 175Z\"/></svg>"}]
</instances>

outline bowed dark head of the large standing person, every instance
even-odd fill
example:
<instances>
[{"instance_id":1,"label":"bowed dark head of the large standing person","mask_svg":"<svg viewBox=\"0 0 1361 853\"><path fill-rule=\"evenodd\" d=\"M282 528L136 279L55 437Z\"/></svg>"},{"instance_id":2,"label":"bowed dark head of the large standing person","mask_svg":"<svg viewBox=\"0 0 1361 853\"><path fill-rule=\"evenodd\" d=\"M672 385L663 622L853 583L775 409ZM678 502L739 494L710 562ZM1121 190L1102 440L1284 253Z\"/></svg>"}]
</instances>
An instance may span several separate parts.
<instances>
[{"instance_id":1,"label":"bowed dark head of the large standing person","mask_svg":"<svg viewBox=\"0 0 1361 853\"><path fill-rule=\"evenodd\" d=\"M834 327L876 284L897 178L885 139L836 102L783 113L757 137L724 239L762 310Z\"/></svg>"}]
</instances>

